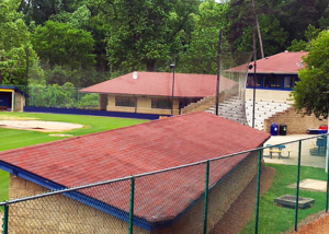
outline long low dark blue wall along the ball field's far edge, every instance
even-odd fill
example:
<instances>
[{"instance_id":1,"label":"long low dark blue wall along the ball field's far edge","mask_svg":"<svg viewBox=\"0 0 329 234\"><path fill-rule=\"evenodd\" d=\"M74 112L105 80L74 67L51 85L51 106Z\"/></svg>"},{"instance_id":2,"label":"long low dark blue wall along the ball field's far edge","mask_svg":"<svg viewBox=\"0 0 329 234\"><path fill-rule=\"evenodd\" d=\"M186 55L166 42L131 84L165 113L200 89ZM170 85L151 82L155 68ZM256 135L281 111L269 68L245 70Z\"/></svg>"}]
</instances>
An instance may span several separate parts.
<instances>
[{"instance_id":1,"label":"long low dark blue wall along the ball field's far edge","mask_svg":"<svg viewBox=\"0 0 329 234\"><path fill-rule=\"evenodd\" d=\"M93 109L70 109L70 108L37 107L37 106L24 106L24 112L107 116L107 117L117 117L117 118L137 118L137 119L149 119L149 120L159 119L160 116L170 116L170 115L156 115L156 114L143 114L143 113L120 113L120 112L106 112L106 110L93 110Z\"/></svg>"}]
</instances>

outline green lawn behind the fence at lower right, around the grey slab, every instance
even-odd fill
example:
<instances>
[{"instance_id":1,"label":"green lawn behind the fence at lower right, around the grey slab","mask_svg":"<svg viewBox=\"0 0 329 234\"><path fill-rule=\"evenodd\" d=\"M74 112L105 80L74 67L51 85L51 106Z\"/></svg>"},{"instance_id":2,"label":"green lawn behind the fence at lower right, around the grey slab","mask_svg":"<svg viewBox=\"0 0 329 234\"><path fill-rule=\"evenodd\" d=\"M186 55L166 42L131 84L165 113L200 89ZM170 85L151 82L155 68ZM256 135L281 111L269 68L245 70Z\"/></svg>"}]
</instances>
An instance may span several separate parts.
<instances>
[{"instance_id":1,"label":"green lawn behind the fence at lower right, around the grey slab","mask_svg":"<svg viewBox=\"0 0 329 234\"><path fill-rule=\"evenodd\" d=\"M274 204L274 198L283 195L296 195L296 188L288 188L288 185L296 184L297 166L270 164L276 168L272 187L260 199L259 233L282 233L295 225L295 209L282 208ZM327 180L325 169L302 166L300 180L314 178ZM300 197L316 200L314 207L298 211L298 222L313 213L326 209L326 192L300 190ZM242 234L254 233L254 219L241 232Z\"/></svg>"}]
</instances>

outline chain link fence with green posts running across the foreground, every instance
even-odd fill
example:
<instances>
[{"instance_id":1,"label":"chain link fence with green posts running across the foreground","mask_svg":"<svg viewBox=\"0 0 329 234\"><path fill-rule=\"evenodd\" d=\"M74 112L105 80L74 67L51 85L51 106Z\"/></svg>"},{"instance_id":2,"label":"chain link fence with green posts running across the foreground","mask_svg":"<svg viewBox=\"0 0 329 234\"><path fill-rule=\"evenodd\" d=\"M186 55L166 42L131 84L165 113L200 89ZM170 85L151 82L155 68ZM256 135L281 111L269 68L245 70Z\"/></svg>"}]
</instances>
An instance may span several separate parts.
<instances>
[{"instance_id":1,"label":"chain link fence with green posts running across the foreground","mask_svg":"<svg viewBox=\"0 0 329 234\"><path fill-rule=\"evenodd\" d=\"M328 211L327 137L280 139L251 151L55 191L11 175L11 200L0 203L2 233L296 231L310 214Z\"/></svg>"}]
</instances>

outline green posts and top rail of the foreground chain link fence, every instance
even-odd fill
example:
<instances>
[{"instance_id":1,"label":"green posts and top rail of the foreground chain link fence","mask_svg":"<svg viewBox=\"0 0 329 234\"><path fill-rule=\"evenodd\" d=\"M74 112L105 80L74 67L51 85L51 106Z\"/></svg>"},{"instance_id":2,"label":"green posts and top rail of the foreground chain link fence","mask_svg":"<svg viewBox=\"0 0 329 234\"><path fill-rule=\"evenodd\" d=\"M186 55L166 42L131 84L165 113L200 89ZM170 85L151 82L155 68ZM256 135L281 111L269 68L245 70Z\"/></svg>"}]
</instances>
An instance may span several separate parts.
<instances>
[{"instance_id":1,"label":"green posts and top rail of the foreground chain link fence","mask_svg":"<svg viewBox=\"0 0 329 234\"><path fill-rule=\"evenodd\" d=\"M329 134L318 134L316 137L309 137L309 138L305 138L305 139L299 139L299 140L294 140L294 141L288 141L285 143L280 143L280 144L273 144L272 147L276 147L276 145L281 145L281 144L288 144L288 143L296 143L298 142L298 166L297 166L297 186L296 186L296 204L298 203L299 200L299 180L300 180L300 159L302 159L302 142L306 141L306 140L310 140L310 139L317 139L320 137L328 137ZM328 138L327 138L328 139ZM215 157L215 159L211 159L211 160L206 160L206 161L200 161L196 163L191 163L191 164L186 164L186 165L181 165L181 166L177 166L177 167L170 167L170 168L166 168L166 169L161 169L161 171L156 171L156 172L150 172L150 173L144 173L144 174L138 174L138 175L134 175L134 176L127 176L127 177L123 177L123 178L117 178L117 179L111 179L111 180L105 180L105 182L100 182L100 183L94 183L94 184L90 184L90 185L84 185L84 186L79 186L79 187L73 187L73 188L67 188L67 189L63 189L63 190L56 190L56 191L50 191L50 192L46 192L46 194L42 194L42 195L36 195L36 196L31 196L31 197L25 197L25 198L20 198L20 199L14 199L14 200L10 200L10 201L3 201L0 202L0 207L4 207L4 217L3 217L3 234L8 234L8 227L9 227L9 209L11 204L18 203L18 202L24 202L27 200L33 200L33 199L38 199L38 198L43 198L43 197L47 197L47 196L54 196L54 195L59 195L59 194L65 194L65 192L69 192L69 191L76 191L78 189L84 189L84 188L91 188L94 186L100 186L100 185L106 185L106 184L111 184L111 183L116 183L116 182L122 182L122 180L131 180L131 201L129 201L129 230L128 233L133 234L134 232L134 199L135 199L135 179L138 177L143 177L143 176L150 176L150 175L155 175L155 174L159 174L159 173L164 173L164 172L169 172L169 171L174 171L174 169L180 169L180 168L184 168L184 167L190 167L190 166L194 166L194 165L201 165L201 164L206 164L206 173L205 173L205 192L204 192L204 223L203 223L203 233L206 234L207 233L207 213L208 213L208 191L209 191L209 165L211 162L214 161L218 161L218 160L224 160L224 159L228 159L228 157L232 157L232 156L237 156L240 154L246 154L246 153L252 153L252 152L258 152L258 172L257 172L257 204L256 204L256 223L254 223L254 233L258 234L259 233L259 209L260 209L260 185L261 185L261 162L263 159L263 150L264 149L269 149L269 147L262 147L262 148L257 148L253 150L248 150L248 151L242 151L242 152L238 152L238 153L234 153L234 154L229 154L229 155L225 155L225 156L219 156L219 157ZM327 153L328 153L329 149L327 149ZM327 154L328 155L328 154ZM326 157L328 160L328 156ZM329 162L327 162L329 163ZM326 191L326 212L328 212L328 202L329 202L329 173L327 175L327 191ZM298 206L295 206L295 231L298 230Z\"/></svg>"}]
</instances>

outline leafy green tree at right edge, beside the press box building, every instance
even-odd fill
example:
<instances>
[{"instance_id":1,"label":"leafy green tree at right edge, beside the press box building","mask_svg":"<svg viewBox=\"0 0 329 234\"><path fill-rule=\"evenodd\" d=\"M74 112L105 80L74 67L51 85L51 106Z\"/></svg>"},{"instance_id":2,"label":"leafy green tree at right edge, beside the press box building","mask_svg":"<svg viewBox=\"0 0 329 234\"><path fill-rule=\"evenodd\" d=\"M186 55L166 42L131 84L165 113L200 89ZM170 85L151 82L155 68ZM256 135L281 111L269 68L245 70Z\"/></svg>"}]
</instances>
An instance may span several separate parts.
<instances>
[{"instance_id":1,"label":"leafy green tree at right edge, beside the press box building","mask_svg":"<svg viewBox=\"0 0 329 234\"><path fill-rule=\"evenodd\" d=\"M306 68L298 73L300 81L293 92L297 110L317 118L327 118L329 108L329 31L311 42Z\"/></svg>"}]
</instances>

